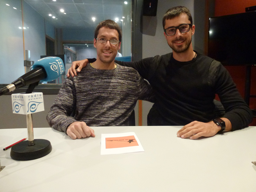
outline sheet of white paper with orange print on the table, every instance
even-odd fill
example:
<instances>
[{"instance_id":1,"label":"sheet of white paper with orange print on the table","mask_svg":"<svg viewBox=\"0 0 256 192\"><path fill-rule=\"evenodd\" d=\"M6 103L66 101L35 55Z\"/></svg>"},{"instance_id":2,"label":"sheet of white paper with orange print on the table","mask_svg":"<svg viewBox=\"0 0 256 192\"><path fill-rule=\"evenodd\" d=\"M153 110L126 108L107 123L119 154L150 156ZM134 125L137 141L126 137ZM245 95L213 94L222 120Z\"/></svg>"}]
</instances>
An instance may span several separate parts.
<instances>
[{"instance_id":1,"label":"sheet of white paper with orange print on the table","mask_svg":"<svg viewBox=\"0 0 256 192\"><path fill-rule=\"evenodd\" d=\"M100 155L144 152L134 132L101 134Z\"/></svg>"}]
</instances>

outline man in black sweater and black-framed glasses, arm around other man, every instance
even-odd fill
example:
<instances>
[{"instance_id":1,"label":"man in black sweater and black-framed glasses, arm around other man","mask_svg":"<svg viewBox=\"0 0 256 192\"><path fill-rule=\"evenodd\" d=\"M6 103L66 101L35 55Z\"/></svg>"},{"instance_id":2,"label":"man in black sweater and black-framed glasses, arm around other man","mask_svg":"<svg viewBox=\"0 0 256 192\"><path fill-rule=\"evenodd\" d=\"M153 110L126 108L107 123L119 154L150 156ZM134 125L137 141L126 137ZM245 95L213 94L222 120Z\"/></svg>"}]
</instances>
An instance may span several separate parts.
<instances>
[{"instance_id":1,"label":"man in black sweater and black-framed glasses, arm around other man","mask_svg":"<svg viewBox=\"0 0 256 192\"><path fill-rule=\"evenodd\" d=\"M190 139L248 126L252 121L252 111L237 91L228 71L220 62L193 50L191 39L195 25L189 10L182 6L169 9L163 18L163 28L172 53L137 62L116 61L135 68L153 87L156 103L148 114L148 123L185 125L177 136ZM80 71L87 62L73 62L70 74L76 75L76 66ZM226 110L221 118L215 118L215 94L219 95Z\"/></svg>"}]
</instances>

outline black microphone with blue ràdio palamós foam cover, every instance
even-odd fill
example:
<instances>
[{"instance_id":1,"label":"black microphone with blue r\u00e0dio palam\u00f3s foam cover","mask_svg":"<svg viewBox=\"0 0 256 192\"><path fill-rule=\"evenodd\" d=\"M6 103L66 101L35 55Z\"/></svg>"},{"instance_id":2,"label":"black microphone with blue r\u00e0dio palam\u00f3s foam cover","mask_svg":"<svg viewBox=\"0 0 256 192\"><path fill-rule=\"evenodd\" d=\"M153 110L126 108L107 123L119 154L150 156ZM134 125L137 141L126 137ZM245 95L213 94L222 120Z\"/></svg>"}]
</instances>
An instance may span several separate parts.
<instances>
[{"instance_id":1,"label":"black microphone with blue r\u00e0dio palam\u00f3s foam cover","mask_svg":"<svg viewBox=\"0 0 256 192\"><path fill-rule=\"evenodd\" d=\"M36 61L33 69L0 90L0 96L20 87L39 81L52 81L64 73L64 64L59 57L44 57Z\"/></svg>"}]
</instances>

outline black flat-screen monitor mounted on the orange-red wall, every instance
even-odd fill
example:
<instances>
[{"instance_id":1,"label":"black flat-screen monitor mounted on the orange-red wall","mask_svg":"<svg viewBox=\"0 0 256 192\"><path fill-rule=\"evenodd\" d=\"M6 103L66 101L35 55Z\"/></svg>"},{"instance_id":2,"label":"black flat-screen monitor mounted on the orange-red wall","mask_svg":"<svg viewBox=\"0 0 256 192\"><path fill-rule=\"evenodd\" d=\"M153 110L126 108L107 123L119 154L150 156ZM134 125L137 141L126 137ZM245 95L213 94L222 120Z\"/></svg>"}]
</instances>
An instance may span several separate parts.
<instances>
[{"instance_id":1,"label":"black flat-screen monitor mounted on the orange-red wall","mask_svg":"<svg viewBox=\"0 0 256 192\"><path fill-rule=\"evenodd\" d=\"M208 56L223 65L256 65L256 11L210 18Z\"/></svg>"}]
</instances>

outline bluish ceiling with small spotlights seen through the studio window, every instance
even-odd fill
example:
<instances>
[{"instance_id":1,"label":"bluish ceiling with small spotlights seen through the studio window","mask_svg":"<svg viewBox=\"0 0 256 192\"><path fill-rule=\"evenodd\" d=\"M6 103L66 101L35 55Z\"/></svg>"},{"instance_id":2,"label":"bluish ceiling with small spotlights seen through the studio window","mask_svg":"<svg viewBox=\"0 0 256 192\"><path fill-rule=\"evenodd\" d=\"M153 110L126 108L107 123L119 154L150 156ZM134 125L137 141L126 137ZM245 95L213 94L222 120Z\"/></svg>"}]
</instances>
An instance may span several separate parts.
<instances>
[{"instance_id":1,"label":"bluish ceiling with small spotlights seen through the studio window","mask_svg":"<svg viewBox=\"0 0 256 192\"><path fill-rule=\"evenodd\" d=\"M123 14L123 0L24 0L56 28L95 28ZM64 13L60 12L64 9ZM55 16L53 19L49 14ZM92 21L92 17L96 20Z\"/></svg>"}]
</instances>

